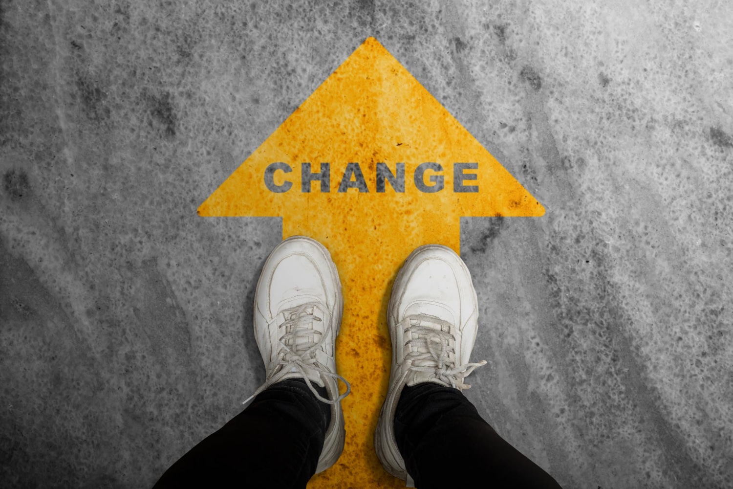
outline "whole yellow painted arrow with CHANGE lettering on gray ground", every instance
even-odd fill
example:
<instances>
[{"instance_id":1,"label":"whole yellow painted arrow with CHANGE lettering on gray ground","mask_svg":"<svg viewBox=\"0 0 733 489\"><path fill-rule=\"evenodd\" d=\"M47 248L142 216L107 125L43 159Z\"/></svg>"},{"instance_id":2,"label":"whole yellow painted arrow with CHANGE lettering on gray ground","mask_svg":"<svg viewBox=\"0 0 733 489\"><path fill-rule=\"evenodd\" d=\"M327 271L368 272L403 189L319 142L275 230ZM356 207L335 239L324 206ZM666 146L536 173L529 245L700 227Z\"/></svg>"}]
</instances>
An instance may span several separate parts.
<instances>
[{"instance_id":1,"label":"whole yellow painted arrow with CHANGE lettering on gray ground","mask_svg":"<svg viewBox=\"0 0 733 489\"><path fill-rule=\"evenodd\" d=\"M424 193L413 183L420 163L443 166L445 188ZM273 162L275 193L264 183ZM312 183L301 192L301 163L331 163L331 191ZM368 192L339 193L345 166L358 162ZM405 192L375 188L376 163L405 163ZM454 193L452 166L476 162L476 193ZM427 177L432 174L427 172ZM374 37L369 37L199 207L200 216L282 216L283 238L323 243L341 276L344 316L336 343L339 373L352 394L342 401L346 446L312 488L404 487L380 466L372 436L391 364L386 306L402 262L417 246L441 243L460 251L461 216L542 216L545 209Z\"/></svg>"}]
</instances>

